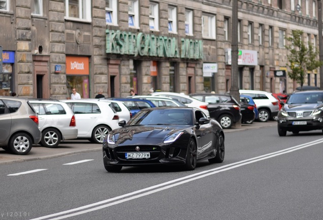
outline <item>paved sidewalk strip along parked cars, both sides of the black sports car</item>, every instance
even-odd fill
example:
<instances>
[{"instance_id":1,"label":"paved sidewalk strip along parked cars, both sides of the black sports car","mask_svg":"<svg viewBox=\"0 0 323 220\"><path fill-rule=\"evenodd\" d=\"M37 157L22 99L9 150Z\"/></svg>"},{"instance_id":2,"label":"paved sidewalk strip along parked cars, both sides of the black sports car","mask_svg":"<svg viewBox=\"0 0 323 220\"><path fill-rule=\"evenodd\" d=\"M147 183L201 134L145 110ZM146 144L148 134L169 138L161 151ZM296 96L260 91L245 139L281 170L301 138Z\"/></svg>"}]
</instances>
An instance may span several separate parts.
<instances>
[{"instance_id":1,"label":"paved sidewalk strip along parked cars, both sides of the black sports car","mask_svg":"<svg viewBox=\"0 0 323 220\"><path fill-rule=\"evenodd\" d=\"M241 124L230 129L223 129L224 134L229 132L236 132L248 129L257 129L260 127L276 126L276 121L268 122L253 122L252 124ZM0 164L23 162L38 159L54 158L59 156L66 156L71 154L101 151L101 144L93 144L87 140L69 140L62 142L58 148L45 148L40 145L34 145L29 154L27 155L14 155L6 152L0 148Z\"/></svg>"}]
</instances>

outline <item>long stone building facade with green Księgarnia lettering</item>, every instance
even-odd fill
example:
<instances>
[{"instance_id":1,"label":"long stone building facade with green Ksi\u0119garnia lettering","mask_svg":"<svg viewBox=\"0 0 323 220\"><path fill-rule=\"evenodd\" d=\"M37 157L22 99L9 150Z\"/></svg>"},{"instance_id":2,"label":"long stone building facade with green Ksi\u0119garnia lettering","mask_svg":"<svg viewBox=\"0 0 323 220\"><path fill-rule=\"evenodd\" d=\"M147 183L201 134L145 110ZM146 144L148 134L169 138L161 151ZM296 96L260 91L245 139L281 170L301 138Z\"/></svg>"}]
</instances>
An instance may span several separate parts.
<instances>
[{"instance_id":1,"label":"long stone building facade with green Ksi\u0119garnia lettering","mask_svg":"<svg viewBox=\"0 0 323 220\"><path fill-rule=\"evenodd\" d=\"M291 93L285 37L318 49L317 1L238 1L240 89ZM66 99L231 88L230 0L0 0L0 95ZM304 85L320 86L318 71Z\"/></svg>"}]
</instances>

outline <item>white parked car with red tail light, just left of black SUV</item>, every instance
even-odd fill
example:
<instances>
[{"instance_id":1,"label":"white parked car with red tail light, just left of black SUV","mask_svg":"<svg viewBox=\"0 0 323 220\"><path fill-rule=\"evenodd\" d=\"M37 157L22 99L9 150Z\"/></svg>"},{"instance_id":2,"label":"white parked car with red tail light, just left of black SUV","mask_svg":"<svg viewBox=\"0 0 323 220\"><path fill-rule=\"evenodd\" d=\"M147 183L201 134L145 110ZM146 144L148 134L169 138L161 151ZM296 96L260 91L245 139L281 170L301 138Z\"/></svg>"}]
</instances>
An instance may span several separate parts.
<instances>
[{"instance_id":1,"label":"white parked car with red tail light, just left of black SUV","mask_svg":"<svg viewBox=\"0 0 323 220\"><path fill-rule=\"evenodd\" d=\"M188 95L174 92L154 92L150 94L151 96L161 96L161 97L169 97L172 99L176 99L188 107L197 107L199 108L208 118L210 118L210 113L208 111L208 103L202 102L195 98L192 98Z\"/></svg>"}]
</instances>

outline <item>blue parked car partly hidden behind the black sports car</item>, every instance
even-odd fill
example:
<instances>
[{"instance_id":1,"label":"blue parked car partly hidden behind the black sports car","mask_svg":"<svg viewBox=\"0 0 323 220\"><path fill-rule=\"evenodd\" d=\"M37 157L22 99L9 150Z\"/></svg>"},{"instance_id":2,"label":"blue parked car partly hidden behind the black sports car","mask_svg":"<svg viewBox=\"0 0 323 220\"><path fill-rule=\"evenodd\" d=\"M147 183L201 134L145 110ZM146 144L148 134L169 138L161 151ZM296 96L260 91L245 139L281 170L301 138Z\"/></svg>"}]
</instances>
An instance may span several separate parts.
<instances>
[{"instance_id":1,"label":"blue parked car partly hidden behind the black sports car","mask_svg":"<svg viewBox=\"0 0 323 220\"><path fill-rule=\"evenodd\" d=\"M151 101L136 98L107 98L107 100L122 101L125 106L129 109L132 117L136 115L141 109L156 107Z\"/></svg>"}]
</instances>

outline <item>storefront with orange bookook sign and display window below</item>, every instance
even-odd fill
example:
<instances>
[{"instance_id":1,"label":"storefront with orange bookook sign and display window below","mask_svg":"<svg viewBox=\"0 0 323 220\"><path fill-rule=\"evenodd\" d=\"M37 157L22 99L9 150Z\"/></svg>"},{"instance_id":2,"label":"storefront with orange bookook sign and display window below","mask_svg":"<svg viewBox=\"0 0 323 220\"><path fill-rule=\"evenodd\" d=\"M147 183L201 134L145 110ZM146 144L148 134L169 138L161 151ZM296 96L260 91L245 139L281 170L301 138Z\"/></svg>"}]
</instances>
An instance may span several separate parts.
<instances>
[{"instance_id":1,"label":"storefront with orange bookook sign and display window below","mask_svg":"<svg viewBox=\"0 0 323 220\"><path fill-rule=\"evenodd\" d=\"M89 58L88 57L66 57L66 78L68 97L72 89L76 88L81 98L89 98Z\"/></svg>"}]
</instances>

